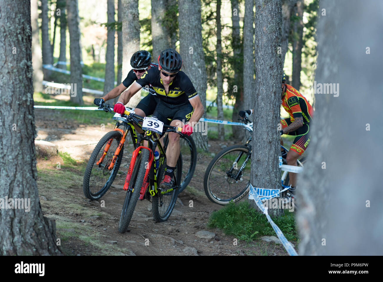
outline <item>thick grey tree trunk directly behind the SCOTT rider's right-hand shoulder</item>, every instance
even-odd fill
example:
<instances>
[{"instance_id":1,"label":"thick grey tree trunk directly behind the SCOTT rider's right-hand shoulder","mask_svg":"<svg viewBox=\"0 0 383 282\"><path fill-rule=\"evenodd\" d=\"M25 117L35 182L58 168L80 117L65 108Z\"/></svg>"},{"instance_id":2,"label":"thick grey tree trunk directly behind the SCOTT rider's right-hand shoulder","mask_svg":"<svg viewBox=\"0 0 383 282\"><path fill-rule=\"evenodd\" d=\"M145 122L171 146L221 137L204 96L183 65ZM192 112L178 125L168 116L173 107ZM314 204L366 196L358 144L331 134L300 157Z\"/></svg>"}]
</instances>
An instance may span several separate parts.
<instances>
[{"instance_id":1,"label":"thick grey tree trunk directly behind the SCOTT rider's right-hand shoulder","mask_svg":"<svg viewBox=\"0 0 383 282\"><path fill-rule=\"evenodd\" d=\"M203 107L206 109L207 79L205 55L202 47L201 1L178 0L178 11L180 55L183 61L182 71L190 78ZM206 117L206 113L202 117ZM199 128L201 129L201 127ZM205 133L195 132L193 133L193 139L197 148L208 151L208 136Z\"/></svg>"}]
</instances>

